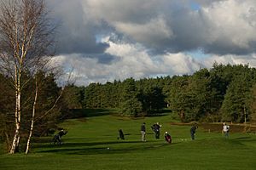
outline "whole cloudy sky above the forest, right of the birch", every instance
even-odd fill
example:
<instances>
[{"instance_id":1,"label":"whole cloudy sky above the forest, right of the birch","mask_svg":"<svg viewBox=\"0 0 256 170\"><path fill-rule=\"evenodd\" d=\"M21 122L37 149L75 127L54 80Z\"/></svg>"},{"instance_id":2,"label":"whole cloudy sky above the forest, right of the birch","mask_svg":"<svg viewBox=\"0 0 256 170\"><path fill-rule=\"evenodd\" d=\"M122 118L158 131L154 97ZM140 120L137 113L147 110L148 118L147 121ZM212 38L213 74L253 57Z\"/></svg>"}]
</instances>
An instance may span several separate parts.
<instances>
[{"instance_id":1,"label":"whole cloudy sky above the forest, right of the birch","mask_svg":"<svg viewBox=\"0 0 256 170\"><path fill-rule=\"evenodd\" d=\"M73 82L256 66L255 0L46 0L58 25L53 65Z\"/></svg>"}]
</instances>

